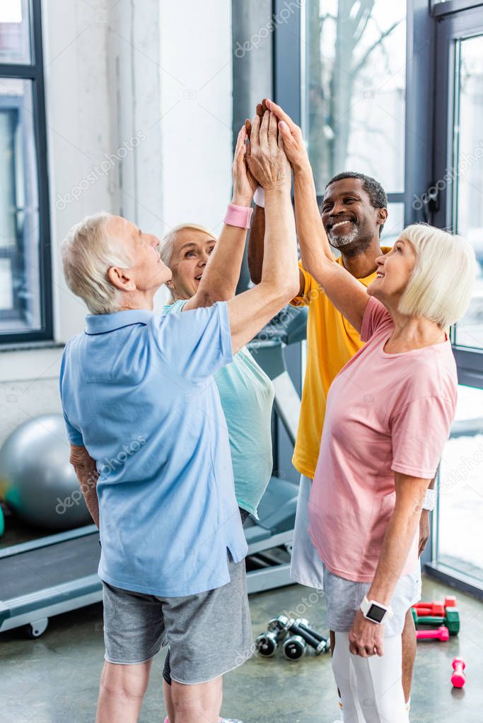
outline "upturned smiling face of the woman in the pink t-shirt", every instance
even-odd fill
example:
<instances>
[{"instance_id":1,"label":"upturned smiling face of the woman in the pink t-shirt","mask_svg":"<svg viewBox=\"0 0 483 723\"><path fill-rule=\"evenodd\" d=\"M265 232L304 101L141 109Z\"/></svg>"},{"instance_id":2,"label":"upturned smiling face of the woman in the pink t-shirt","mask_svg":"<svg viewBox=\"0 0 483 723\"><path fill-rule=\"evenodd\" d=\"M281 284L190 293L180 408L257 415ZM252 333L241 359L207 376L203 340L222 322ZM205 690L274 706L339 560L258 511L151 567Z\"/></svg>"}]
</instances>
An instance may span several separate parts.
<instances>
[{"instance_id":1,"label":"upturned smiling face of the woman in the pink t-shirt","mask_svg":"<svg viewBox=\"0 0 483 723\"><path fill-rule=\"evenodd\" d=\"M397 308L416 265L416 251L407 239L398 239L388 254L376 259L377 275L367 287L367 294Z\"/></svg>"}]
</instances>

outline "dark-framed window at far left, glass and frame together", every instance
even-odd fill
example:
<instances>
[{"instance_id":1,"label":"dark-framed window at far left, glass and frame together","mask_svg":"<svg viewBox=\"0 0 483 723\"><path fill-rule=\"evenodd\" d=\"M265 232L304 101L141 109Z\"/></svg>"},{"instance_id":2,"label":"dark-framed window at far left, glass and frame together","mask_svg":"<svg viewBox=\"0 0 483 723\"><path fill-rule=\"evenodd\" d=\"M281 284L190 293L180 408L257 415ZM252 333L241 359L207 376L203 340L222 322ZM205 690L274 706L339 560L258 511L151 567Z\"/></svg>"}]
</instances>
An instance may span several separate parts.
<instances>
[{"instance_id":1,"label":"dark-framed window at far left, glass and frame together","mask_svg":"<svg viewBox=\"0 0 483 723\"><path fill-rule=\"evenodd\" d=\"M0 343L51 338L40 2L0 5Z\"/></svg>"}]
</instances>

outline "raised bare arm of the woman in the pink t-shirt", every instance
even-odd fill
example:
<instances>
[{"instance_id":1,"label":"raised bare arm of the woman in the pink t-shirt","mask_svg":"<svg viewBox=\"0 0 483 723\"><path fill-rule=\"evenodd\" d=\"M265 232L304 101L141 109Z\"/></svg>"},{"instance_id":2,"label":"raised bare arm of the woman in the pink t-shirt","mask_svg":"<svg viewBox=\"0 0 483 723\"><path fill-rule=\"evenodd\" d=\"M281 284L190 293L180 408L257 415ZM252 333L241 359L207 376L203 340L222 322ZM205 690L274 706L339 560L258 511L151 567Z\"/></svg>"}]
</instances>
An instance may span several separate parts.
<instances>
[{"instance_id":1,"label":"raised bare arm of the woman in the pink t-shirt","mask_svg":"<svg viewBox=\"0 0 483 723\"><path fill-rule=\"evenodd\" d=\"M280 106L276 106L271 100L267 100L267 106L282 121L280 132L288 160L294 169L297 234L304 269L315 278L334 306L360 332L369 296L362 284L333 257L317 205L312 168L302 131Z\"/></svg>"}]
</instances>

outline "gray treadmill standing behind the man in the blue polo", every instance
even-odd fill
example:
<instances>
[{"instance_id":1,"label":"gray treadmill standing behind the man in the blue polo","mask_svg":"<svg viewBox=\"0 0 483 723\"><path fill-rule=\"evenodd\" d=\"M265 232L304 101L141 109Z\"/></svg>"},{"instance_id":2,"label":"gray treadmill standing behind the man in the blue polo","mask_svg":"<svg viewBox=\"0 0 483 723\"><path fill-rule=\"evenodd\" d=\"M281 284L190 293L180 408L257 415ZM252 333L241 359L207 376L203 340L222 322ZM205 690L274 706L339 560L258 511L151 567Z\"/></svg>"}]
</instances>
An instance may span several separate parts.
<instances>
[{"instance_id":1,"label":"gray treadmill standing behind the man in the blue polo","mask_svg":"<svg viewBox=\"0 0 483 723\"><path fill-rule=\"evenodd\" d=\"M283 359L283 348L306 336L307 309L286 307L265 326L249 348L275 386L275 414L292 444L300 398ZM259 506L260 519L249 518L245 534L248 592L291 584L290 552L298 484L272 476ZM95 525L43 536L0 549L0 632L27 626L42 635L48 618L100 602L99 531Z\"/></svg>"}]
</instances>

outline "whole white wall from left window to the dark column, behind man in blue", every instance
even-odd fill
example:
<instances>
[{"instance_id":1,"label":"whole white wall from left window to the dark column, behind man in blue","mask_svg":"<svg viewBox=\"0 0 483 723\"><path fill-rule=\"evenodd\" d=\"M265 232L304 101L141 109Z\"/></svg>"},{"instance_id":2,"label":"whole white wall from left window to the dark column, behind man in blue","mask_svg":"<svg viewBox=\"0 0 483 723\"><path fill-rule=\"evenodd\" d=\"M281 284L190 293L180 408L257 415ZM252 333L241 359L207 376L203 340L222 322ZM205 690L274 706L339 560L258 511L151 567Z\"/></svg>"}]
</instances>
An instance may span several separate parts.
<instances>
[{"instance_id":1,"label":"whole white wall from left window to the dark column, behind man in blue","mask_svg":"<svg viewBox=\"0 0 483 723\"><path fill-rule=\"evenodd\" d=\"M158 235L186 220L219 231L231 192L230 4L212 0L210 12L196 0L120 0L112 11L110 4L43 2L59 342L82 331L87 311L59 262L73 223L107 210ZM144 140L134 147L137 134ZM25 419L60 410L61 354L0 353L0 443Z\"/></svg>"}]
</instances>

